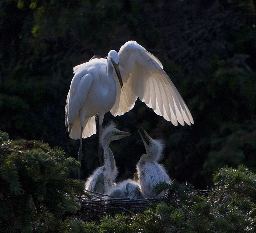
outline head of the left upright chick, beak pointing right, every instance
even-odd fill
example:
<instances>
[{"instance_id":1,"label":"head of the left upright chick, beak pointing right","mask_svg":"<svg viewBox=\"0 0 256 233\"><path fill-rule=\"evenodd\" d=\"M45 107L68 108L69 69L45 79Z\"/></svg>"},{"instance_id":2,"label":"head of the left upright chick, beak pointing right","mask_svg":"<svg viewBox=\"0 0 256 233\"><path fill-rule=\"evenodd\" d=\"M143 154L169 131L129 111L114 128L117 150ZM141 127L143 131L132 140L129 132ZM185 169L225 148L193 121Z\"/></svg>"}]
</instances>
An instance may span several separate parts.
<instances>
[{"instance_id":1,"label":"head of the left upright chick, beak pointing right","mask_svg":"<svg viewBox=\"0 0 256 233\"><path fill-rule=\"evenodd\" d=\"M105 143L110 143L111 141L118 140L130 135L131 133L118 130L116 125L112 122L102 131L101 144L103 146Z\"/></svg>"}]
</instances>

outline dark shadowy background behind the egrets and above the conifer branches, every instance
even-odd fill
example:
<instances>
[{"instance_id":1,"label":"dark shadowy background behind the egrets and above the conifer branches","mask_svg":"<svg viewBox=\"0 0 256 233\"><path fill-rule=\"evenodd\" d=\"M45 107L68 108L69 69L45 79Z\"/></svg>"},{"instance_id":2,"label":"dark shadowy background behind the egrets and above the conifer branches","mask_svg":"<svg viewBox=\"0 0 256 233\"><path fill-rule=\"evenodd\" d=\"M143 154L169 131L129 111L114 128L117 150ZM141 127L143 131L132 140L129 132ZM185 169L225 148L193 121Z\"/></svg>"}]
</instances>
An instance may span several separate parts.
<instances>
[{"instance_id":1,"label":"dark shadowy background behind the egrets and above the conifer branches","mask_svg":"<svg viewBox=\"0 0 256 233\"><path fill-rule=\"evenodd\" d=\"M145 153L141 127L164 140L172 179L207 188L224 165L256 172L255 24L250 0L3 0L0 129L77 158L64 120L72 68L135 40L162 62L195 124L175 127L140 100L124 116L107 113L103 125L132 133L111 144L118 180L132 178ZM98 134L83 140L82 179L98 166L97 145Z\"/></svg>"}]
</instances>

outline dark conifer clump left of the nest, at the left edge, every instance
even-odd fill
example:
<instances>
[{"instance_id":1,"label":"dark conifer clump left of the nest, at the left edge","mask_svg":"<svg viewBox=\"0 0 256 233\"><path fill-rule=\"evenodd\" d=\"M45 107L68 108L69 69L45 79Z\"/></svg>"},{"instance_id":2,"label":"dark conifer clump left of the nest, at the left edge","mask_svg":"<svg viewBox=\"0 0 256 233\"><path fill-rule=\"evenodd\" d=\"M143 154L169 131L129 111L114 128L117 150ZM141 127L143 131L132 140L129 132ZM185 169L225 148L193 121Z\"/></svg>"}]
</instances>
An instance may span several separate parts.
<instances>
[{"instance_id":1,"label":"dark conifer clump left of the nest, at the left edge","mask_svg":"<svg viewBox=\"0 0 256 233\"><path fill-rule=\"evenodd\" d=\"M0 137L1 232L61 228L62 215L80 209L75 198L84 194L85 183L69 178L70 169L77 169L79 163L41 141L12 141L3 132Z\"/></svg>"}]
</instances>

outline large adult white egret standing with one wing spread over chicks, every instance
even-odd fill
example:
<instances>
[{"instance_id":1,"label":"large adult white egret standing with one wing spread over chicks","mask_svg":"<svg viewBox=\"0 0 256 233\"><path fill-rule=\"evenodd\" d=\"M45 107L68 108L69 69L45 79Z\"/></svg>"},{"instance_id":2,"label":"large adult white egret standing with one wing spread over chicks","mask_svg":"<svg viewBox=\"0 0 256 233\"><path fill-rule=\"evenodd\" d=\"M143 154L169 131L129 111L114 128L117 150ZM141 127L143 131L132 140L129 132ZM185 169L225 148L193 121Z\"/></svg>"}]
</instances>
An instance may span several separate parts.
<instances>
[{"instance_id":1,"label":"large adult white egret standing with one wing spread over chicks","mask_svg":"<svg viewBox=\"0 0 256 233\"><path fill-rule=\"evenodd\" d=\"M118 53L111 50L106 58L92 58L74 67L66 100L65 124L70 138L80 139L79 162L83 156L82 138L96 133L95 115L99 118L100 138L105 113L123 115L134 107L138 97L176 126L178 122L181 125L194 123L161 62L136 41L126 42ZM100 146L98 156L101 166Z\"/></svg>"}]
</instances>

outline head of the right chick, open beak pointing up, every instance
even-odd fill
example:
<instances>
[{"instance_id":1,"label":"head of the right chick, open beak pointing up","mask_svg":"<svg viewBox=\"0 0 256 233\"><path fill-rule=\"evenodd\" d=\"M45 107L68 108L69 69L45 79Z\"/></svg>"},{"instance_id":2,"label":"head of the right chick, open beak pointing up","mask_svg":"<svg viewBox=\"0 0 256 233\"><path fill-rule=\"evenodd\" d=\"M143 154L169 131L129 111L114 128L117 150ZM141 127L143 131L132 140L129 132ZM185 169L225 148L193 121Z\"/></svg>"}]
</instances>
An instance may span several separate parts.
<instances>
[{"instance_id":1,"label":"head of the right chick, open beak pointing up","mask_svg":"<svg viewBox=\"0 0 256 233\"><path fill-rule=\"evenodd\" d=\"M139 130L138 130L139 132ZM147 132L142 128L142 133L139 132L139 135L145 146L147 155L144 159L150 159L151 161L159 161L163 153L163 142L161 140L154 140L151 138Z\"/></svg>"}]
</instances>

